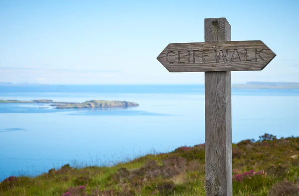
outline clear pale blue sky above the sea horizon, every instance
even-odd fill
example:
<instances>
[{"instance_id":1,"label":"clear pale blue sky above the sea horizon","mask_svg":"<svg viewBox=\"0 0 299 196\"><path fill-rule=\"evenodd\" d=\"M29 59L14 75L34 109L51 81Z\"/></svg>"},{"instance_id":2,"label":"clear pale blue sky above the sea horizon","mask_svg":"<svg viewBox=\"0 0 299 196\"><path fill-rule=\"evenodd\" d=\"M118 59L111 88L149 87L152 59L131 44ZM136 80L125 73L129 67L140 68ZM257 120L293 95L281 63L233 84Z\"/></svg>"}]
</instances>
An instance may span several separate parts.
<instances>
[{"instance_id":1,"label":"clear pale blue sky above the sea horizon","mask_svg":"<svg viewBox=\"0 0 299 196\"><path fill-rule=\"evenodd\" d=\"M226 17L231 40L277 56L232 83L299 82L299 0L0 0L0 82L203 84L156 59L169 43L204 42L204 19Z\"/></svg>"}]
</instances>

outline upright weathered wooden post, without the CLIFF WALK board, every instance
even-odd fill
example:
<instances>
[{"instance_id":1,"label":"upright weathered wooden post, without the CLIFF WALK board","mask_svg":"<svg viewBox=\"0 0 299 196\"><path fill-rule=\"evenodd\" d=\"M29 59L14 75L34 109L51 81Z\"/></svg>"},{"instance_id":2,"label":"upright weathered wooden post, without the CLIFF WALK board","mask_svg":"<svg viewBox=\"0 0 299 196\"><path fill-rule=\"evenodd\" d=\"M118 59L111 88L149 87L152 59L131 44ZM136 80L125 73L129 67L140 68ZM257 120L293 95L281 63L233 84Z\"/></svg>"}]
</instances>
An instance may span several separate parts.
<instances>
[{"instance_id":1,"label":"upright weathered wooden post, without the CLIFF WALK board","mask_svg":"<svg viewBox=\"0 0 299 196\"><path fill-rule=\"evenodd\" d=\"M205 42L231 41L226 18L206 18ZM232 196L231 72L205 72L206 196Z\"/></svg>"}]
</instances>

